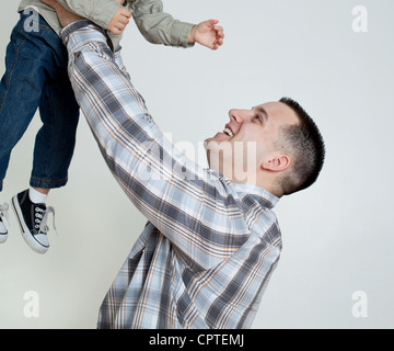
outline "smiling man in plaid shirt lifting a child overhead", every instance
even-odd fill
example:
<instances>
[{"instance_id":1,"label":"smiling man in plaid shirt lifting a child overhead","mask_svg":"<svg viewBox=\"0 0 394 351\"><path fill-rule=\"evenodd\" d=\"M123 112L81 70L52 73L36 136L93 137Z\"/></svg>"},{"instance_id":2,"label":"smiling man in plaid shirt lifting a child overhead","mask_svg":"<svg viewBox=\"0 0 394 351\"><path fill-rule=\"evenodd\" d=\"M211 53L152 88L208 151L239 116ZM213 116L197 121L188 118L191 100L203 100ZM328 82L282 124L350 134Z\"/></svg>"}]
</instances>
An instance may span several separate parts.
<instances>
[{"instance_id":1,"label":"smiling man in plaid shirt lifting a child overhead","mask_svg":"<svg viewBox=\"0 0 394 351\"><path fill-rule=\"evenodd\" d=\"M43 1L66 26L71 83L102 155L149 220L99 328L250 328L281 250L271 210L316 180L318 128L290 99L231 110L202 169L165 140L100 29Z\"/></svg>"}]
</instances>

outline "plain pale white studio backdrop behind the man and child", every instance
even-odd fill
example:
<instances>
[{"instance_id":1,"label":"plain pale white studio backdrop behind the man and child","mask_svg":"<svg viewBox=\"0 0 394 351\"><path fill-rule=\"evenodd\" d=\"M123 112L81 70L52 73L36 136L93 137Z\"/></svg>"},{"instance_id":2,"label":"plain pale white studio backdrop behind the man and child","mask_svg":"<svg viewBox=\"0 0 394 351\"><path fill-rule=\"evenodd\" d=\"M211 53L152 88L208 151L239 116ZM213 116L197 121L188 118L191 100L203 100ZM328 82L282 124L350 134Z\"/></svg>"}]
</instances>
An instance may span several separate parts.
<instances>
[{"instance_id":1,"label":"plain pale white studio backdrop behind the man and child","mask_svg":"<svg viewBox=\"0 0 394 351\"><path fill-rule=\"evenodd\" d=\"M367 32L355 31L366 25L352 13L358 5L368 11ZM16 8L2 1L1 57ZM326 140L320 181L276 208L283 251L253 328L393 328L394 2L164 0L164 9L187 22L219 19L225 29L216 53L155 46L134 23L127 29L125 65L174 143L197 148L223 128L230 109L283 95L309 111ZM28 186L39 126L37 114L14 148L1 203ZM45 256L27 248L11 216L0 246L0 328L95 328L143 228L83 116L69 178L49 196L59 235L51 229ZM39 298L38 316L26 315L31 296Z\"/></svg>"}]
</instances>

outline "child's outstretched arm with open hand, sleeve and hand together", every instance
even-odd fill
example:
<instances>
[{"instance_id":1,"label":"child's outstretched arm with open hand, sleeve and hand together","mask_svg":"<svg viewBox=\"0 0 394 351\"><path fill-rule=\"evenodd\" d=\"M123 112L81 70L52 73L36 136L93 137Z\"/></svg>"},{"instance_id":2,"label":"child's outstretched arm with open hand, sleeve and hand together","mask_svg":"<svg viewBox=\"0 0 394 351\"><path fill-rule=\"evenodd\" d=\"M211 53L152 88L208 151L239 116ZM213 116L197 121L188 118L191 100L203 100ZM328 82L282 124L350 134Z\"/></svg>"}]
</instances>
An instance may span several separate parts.
<instances>
[{"instance_id":1,"label":"child's outstretched arm with open hand, sleeve and hand together","mask_svg":"<svg viewBox=\"0 0 394 351\"><path fill-rule=\"evenodd\" d=\"M199 43L211 49L223 44L223 29L218 21L205 21L198 25L174 20L163 12L161 0L137 0L132 16L146 39L153 44L193 46Z\"/></svg>"}]
</instances>

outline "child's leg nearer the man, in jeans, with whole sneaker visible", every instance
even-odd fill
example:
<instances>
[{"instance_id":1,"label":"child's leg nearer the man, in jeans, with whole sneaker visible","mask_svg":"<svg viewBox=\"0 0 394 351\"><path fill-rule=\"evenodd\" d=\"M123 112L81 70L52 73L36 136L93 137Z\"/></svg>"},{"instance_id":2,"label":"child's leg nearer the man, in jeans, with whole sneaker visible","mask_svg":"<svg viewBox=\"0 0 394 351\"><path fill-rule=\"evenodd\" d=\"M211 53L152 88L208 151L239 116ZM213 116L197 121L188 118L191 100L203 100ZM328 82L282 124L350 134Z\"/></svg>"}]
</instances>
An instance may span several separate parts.
<instances>
[{"instance_id":1,"label":"child's leg nearer the man, in jeans, with whole sneaker visible","mask_svg":"<svg viewBox=\"0 0 394 351\"><path fill-rule=\"evenodd\" d=\"M12 200L22 236L38 253L49 249L48 228L44 223L46 214L54 213L51 207L43 205L46 196L42 191L66 184L76 144L79 105L67 75L67 55L65 61L65 67L58 67L58 72L62 72L63 77L45 82L39 104L43 127L35 141L31 186L42 189L38 192L30 189Z\"/></svg>"}]
</instances>

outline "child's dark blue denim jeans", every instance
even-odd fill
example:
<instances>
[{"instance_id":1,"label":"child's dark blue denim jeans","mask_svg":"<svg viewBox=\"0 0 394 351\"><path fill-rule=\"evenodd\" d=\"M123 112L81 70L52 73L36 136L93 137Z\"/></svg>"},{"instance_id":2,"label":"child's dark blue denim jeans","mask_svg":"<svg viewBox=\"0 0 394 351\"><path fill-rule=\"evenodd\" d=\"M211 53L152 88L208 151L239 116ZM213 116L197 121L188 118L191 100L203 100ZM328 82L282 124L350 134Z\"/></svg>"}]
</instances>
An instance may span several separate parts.
<instances>
[{"instance_id":1,"label":"child's dark blue denim jeans","mask_svg":"<svg viewBox=\"0 0 394 351\"><path fill-rule=\"evenodd\" d=\"M43 126L35 140L31 186L63 186L74 150L79 105L67 73L67 49L45 20L36 19L38 31L26 25L30 14L21 14L7 47L0 82L0 191L11 151L37 107Z\"/></svg>"}]
</instances>

